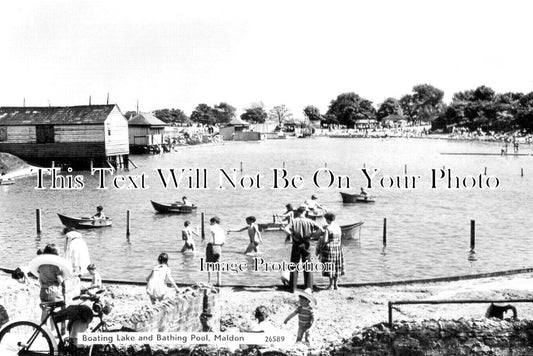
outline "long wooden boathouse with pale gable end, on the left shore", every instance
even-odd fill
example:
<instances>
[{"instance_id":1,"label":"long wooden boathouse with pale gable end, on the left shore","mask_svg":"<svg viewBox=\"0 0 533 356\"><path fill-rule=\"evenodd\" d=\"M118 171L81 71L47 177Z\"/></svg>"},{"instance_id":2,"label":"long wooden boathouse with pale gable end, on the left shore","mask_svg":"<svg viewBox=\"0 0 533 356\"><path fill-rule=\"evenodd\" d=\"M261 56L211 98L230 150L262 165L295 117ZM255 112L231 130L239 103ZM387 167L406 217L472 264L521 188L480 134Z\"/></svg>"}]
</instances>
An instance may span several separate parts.
<instances>
[{"instance_id":1,"label":"long wooden boathouse with pale gable end, on the left shore","mask_svg":"<svg viewBox=\"0 0 533 356\"><path fill-rule=\"evenodd\" d=\"M128 122L117 105L0 107L0 152L44 166L127 167Z\"/></svg>"}]
</instances>

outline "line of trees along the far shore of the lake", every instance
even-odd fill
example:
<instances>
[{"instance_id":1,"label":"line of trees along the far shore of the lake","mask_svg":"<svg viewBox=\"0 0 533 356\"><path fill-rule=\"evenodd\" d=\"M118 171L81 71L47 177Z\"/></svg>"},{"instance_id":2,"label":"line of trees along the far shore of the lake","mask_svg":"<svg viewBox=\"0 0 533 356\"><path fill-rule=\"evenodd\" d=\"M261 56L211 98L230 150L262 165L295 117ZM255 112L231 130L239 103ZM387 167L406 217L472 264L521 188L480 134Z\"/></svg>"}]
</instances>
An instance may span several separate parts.
<instances>
[{"instance_id":1,"label":"line of trees along the far shore of the lake","mask_svg":"<svg viewBox=\"0 0 533 356\"><path fill-rule=\"evenodd\" d=\"M411 93L399 99L386 98L376 108L372 101L356 93L342 93L331 100L325 114L321 114L316 106L306 106L303 119L320 120L325 125L354 127L357 120L382 122L389 118L401 118L413 124L431 122L433 127L444 129L458 126L485 131L533 131L533 92L498 94L483 85L455 93L449 104L443 102L443 97L442 90L430 84L419 84L412 88ZM126 113L126 117L129 118L131 113ZM235 118L235 113L233 106L222 102L213 107L199 104L190 117L180 109L156 110L154 115L173 124L196 122L223 125ZM240 118L250 123L263 123L270 119L282 126L293 120L293 114L285 105L274 106L267 112L263 103L259 102L246 107Z\"/></svg>"}]
</instances>

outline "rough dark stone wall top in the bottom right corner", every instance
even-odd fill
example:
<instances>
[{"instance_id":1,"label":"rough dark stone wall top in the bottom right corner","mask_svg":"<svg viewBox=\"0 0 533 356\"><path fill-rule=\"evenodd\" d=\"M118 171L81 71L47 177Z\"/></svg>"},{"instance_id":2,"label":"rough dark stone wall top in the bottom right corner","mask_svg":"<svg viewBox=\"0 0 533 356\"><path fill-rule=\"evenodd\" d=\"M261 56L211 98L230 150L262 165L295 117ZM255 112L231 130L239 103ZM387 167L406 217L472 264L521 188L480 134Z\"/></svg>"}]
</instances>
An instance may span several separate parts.
<instances>
[{"instance_id":1,"label":"rough dark stone wall top in the bottom right corner","mask_svg":"<svg viewBox=\"0 0 533 356\"><path fill-rule=\"evenodd\" d=\"M428 320L377 324L336 346L331 355L533 355L533 321Z\"/></svg>"}]
</instances>

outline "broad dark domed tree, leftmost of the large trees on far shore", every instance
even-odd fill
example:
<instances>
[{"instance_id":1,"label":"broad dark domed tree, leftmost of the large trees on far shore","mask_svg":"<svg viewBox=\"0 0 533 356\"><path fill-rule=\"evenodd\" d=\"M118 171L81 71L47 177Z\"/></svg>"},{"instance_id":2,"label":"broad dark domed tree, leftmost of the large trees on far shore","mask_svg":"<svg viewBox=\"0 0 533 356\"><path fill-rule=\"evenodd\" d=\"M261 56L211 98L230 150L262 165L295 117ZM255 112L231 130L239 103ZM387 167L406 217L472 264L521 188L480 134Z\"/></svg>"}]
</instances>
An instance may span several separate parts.
<instances>
[{"instance_id":1,"label":"broad dark domed tree, leftmost of the large trees on far shore","mask_svg":"<svg viewBox=\"0 0 533 356\"><path fill-rule=\"evenodd\" d=\"M344 93L331 101L328 114L334 115L340 124L353 127L356 120L374 119L376 109L370 100L355 93Z\"/></svg>"}]
</instances>

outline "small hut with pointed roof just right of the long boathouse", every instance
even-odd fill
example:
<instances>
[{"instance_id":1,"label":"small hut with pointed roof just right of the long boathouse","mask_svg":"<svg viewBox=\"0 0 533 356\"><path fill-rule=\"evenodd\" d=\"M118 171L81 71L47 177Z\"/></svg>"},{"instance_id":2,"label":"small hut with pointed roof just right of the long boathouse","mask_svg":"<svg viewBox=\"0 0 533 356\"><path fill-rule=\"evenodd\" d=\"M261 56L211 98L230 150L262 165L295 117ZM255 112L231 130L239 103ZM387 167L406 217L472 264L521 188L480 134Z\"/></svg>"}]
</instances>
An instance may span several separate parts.
<instances>
[{"instance_id":1,"label":"small hut with pointed roof just right of the long boathouse","mask_svg":"<svg viewBox=\"0 0 533 356\"><path fill-rule=\"evenodd\" d=\"M139 113L128 121L130 148L134 151L159 152L166 123L150 113Z\"/></svg>"}]
</instances>

